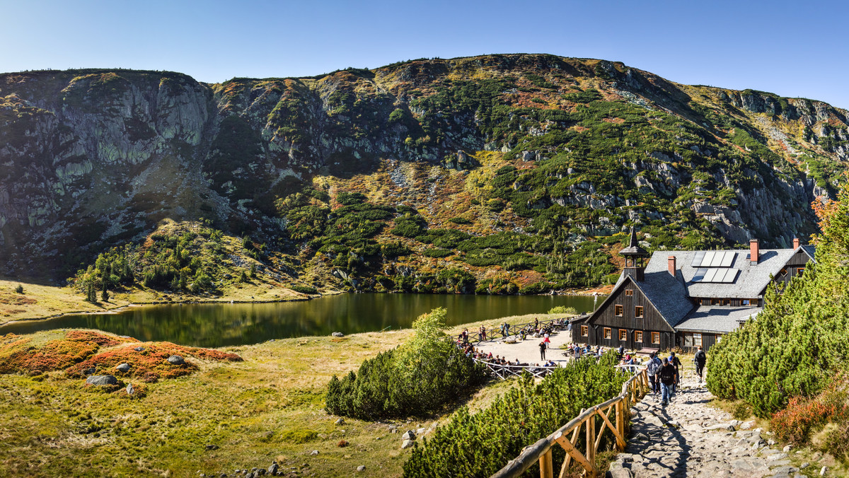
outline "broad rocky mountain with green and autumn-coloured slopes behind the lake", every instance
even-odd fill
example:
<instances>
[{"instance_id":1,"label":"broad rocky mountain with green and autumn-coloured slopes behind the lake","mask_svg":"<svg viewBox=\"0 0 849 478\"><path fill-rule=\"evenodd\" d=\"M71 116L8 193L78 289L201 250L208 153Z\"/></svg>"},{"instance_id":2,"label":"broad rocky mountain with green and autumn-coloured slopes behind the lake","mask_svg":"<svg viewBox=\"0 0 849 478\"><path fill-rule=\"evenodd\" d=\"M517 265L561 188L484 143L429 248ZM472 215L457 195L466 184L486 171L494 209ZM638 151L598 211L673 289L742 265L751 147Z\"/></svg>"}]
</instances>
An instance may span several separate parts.
<instances>
[{"instance_id":1,"label":"broad rocky mountain with green and autumn-coloured slopes behind the lake","mask_svg":"<svg viewBox=\"0 0 849 478\"><path fill-rule=\"evenodd\" d=\"M92 281L117 261L110 285L219 293L248 264L307 289L602 284L632 224L653 249L807 238L846 171L847 118L546 54L221 84L8 73L0 274Z\"/></svg>"}]
</instances>

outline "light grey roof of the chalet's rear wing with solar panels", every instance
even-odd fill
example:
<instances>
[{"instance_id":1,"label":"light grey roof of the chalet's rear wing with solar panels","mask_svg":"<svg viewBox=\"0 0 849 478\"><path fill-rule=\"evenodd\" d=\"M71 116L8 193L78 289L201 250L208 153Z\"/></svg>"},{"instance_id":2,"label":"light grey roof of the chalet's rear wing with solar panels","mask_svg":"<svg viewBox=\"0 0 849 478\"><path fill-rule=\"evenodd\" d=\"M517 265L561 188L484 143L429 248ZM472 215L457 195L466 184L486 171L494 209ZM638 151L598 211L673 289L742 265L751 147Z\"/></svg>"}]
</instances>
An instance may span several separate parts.
<instances>
[{"instance_id":1,"label":"light grey roof of the chalet's rear wing with solar panels","mask_svg":"<svg viewBox=\"0 0 849 478\"><path fill-rule=\"evenodd\" d=\"M760 261L753 266L748 258L748 250L715 251L736 254L730 266L730 268L739 270L736 278L734 278L734 282L728 284L694 282L693 278L696 275L696 271L701 267L693 267L693 260L697 253L704 254L705 252L700 250L658 250L651 255L649 264L645 268L645 273L647 276L649 273L666 273L668 258L675 256L676 267L678 267L678 270L683 275L684 285L690 297L756 298L760 297L764 288L769 284L770 276L779 275L779 272L787 264L787 261L790 260L790 257L796 254L796 250L792 249L761 250Z\"/></svg>"}]
</instances>

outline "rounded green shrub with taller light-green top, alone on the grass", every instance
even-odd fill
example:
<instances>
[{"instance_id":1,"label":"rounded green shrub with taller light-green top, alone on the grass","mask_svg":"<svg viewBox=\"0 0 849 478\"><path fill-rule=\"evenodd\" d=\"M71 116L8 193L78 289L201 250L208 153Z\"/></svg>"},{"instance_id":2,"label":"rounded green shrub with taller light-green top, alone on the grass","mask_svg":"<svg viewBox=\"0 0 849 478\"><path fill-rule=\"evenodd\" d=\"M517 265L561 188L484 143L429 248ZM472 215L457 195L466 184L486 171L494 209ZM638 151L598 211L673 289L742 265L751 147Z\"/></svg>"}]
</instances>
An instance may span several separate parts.
<instances>
[{"instance_id":1,"label":"rounded green shrub with taller light-green top, alone on the grass","mask_svg":"<svg viewBox=\"0 0 849 478\"><path fill-rule=\"evenodd\" d=\"M443 308L420 316L407 343L364 361L356 374L334 375L327 411L366 420L424 415L480 385L483 368L442 332L445 316Z\"/></svg>"}]
</instances>

